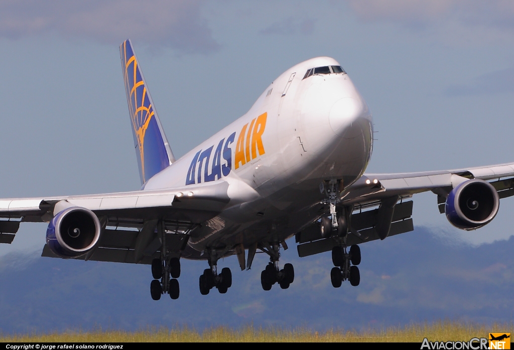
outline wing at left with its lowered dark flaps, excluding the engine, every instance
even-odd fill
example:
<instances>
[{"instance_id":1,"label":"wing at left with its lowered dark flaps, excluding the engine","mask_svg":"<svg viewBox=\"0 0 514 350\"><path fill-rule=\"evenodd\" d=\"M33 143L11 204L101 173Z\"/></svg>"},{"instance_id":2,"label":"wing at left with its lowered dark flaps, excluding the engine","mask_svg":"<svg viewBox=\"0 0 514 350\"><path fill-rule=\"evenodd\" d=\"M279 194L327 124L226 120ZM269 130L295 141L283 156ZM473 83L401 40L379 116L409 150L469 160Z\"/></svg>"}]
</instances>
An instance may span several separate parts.
<instances>
[{"instance_id":1,"label":"wing at left with its lowered dark flaps, excluding the engine","mask_svg":"<svg viewBox=\"0 0 514 350\"><path fill-rule=\"evenodd\" d=\"M220 181L164 190L2 199L0 218L7 220L0 220L0 243L11 243L21 222L49 222L61 210L77 206L93 211L103 225L93 254L78 259L149 264L159 256L161 241L155 234L155 225L143 241L138 238L143 236L139 233L144 231L145 223L156 224L157 219L163 219L170 232L166 242L169 251L183 250L189 238L188 231L215 217L227 206L230 201L228 188L227 182ZM48 245L42 256L59 257Z\"/></svg>"}]
</instances>

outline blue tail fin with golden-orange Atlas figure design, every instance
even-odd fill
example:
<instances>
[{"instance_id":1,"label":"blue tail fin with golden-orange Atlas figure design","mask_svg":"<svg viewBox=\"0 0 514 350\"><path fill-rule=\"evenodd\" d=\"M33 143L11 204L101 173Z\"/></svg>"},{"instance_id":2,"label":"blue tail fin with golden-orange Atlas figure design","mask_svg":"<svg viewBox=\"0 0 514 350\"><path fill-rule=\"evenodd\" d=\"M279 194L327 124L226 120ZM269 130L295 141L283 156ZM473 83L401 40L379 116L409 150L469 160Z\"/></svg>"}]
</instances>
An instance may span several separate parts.
<instances>
[{"instance_id":1,"label":"blue tail fin with golden-orange Atlas figure design","mask_svg":"<svg viewBox=\"0 0 514 350\"><path fill-rule=\"evenodd\" d=\"M128 112L141 184L175 161L130 40L120 46Z\"/></svg>"}]
</instances>

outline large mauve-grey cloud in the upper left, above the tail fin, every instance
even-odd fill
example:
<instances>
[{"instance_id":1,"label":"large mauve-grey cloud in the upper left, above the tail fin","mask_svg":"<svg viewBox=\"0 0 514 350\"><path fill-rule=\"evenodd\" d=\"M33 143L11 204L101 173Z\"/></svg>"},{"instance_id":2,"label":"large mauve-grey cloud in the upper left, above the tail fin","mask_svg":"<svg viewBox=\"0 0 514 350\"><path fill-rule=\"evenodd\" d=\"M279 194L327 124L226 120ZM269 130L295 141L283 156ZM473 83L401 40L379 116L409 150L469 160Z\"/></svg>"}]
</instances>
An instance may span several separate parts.
<instances>
[{"instance_id":1,"label":"large mauve-grey cloud in the upper left, above the tail fin","mask_svg":"<svg viewBox=\"0 0 514 350\"><path fill-rule=\"evenodd\" d=\"M131 38L181 53L209 53L219 45L201 17L200 4L197 0L7 0L0 2L0 36L17 38L57 32L108 44Z\"/></svg>"}]
</instances>

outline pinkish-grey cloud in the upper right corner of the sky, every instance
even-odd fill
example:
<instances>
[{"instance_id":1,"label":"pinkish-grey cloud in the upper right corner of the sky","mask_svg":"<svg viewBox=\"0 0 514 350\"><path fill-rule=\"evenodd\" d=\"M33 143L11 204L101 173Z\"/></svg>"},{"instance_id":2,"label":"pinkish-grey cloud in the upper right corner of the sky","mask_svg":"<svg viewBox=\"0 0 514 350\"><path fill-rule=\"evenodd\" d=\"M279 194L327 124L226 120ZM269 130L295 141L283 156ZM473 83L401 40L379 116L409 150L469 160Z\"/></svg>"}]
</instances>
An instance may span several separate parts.
<instances>
[{"instance_id":1,"label":"pinkish-grey cloud in the upper right corner of the sky","mask_svg":"<svg viewBox=\"0 0 514 350\"><path fill-rule=\"evenodd\" d=\"M450 45L514 39L514 2L507 0L348 0L348 5L364 21L435 34Z\"/></svg>"}]
</instances>

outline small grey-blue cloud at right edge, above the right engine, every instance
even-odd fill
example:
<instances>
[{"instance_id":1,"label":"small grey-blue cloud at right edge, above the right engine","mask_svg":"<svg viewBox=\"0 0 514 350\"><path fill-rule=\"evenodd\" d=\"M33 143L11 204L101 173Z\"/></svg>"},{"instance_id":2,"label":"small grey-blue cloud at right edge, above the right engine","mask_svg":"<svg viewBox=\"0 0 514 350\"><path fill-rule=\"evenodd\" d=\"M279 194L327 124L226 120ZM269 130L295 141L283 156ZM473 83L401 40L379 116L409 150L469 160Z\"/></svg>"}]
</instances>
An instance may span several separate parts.
<instances>
[{"instance_id":1,"label":"small grey-blue cloud at right edge, above the right engine","mask_svg":"<svg viewBox=\"0 0 514 350\"><path fill-rule=\"evenodd\" d=\"M514 68L507 68L476 77L467 85L454 85L446 89L448 96L467 96L514 92Z\"/></svg>"}]
</instances>

